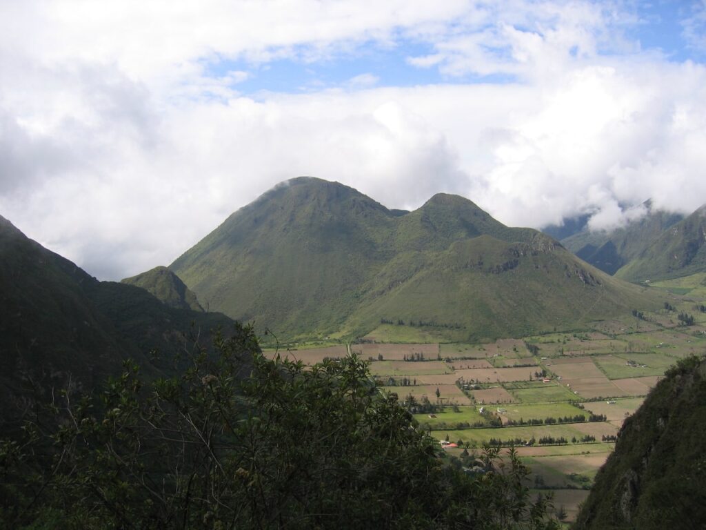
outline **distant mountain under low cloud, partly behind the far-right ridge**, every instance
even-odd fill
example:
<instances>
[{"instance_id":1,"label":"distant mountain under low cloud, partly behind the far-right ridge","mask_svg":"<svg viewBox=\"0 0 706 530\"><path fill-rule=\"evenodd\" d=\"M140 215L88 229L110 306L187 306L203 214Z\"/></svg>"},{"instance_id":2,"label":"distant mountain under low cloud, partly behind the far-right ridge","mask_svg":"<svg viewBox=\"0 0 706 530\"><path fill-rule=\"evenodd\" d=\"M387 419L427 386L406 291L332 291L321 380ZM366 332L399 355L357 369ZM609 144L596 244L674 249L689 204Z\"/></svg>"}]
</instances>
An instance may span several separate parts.
<instances>
[{"instance_id":1,"label":"distant mountain under low cloud, partly behind the far-right ridge","mask_svg":"<svg viewBox=\"0 0 706 530\"><path fill-rule=\"evenodd\" d=\"M647 215L623 228L610 232L585 229L561 240L561 244L597 269L615 274L652 245L664 230L683 219L678 213L653 210L652 201L646 201L643 206L647 209Z\"/></svg>"}]
</instances>

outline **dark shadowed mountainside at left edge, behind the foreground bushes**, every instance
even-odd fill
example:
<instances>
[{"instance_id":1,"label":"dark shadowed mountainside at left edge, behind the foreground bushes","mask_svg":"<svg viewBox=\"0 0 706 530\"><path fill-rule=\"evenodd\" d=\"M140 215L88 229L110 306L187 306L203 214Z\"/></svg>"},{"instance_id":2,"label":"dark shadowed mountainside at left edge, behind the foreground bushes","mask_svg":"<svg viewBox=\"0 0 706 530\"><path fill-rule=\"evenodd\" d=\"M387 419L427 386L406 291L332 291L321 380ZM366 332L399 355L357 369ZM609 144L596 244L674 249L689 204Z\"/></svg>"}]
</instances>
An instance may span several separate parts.
<instances>
[{"instance_id":1,"label":"dark shadowed mountainside at left edge, behind the foreground bushes","mask_svg":"<svg viewBox=\"0 0 706 530\"><path fill-rule=\"evenodd\" d=\"M97 281L0 217L0 420L52 388L90 388L118 374L126 358L148 374L169 370L190 329L216 326L232 321Z\"/></svg>"}]
</instances>

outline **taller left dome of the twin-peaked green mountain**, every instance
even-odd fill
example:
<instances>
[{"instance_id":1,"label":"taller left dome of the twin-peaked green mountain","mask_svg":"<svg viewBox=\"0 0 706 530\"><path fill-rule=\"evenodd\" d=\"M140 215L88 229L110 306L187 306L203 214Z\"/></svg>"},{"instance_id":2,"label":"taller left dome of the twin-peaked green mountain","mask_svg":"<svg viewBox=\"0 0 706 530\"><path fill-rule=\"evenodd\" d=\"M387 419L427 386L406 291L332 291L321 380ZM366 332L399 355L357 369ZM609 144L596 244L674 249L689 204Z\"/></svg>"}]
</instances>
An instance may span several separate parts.
<instances>
[{"instance_id":1,"label":"taller left dome of the twin-peaked green mountain","mask_svg":"<svg viewBox=\"0 0 706 530\"><path fill-rule=\"evenodd\" d=\"M352 188L293 179L169 268L212 310L276 331L336 329L369 271L393 257L394 220Z\"/></svg>"}]
</instances>

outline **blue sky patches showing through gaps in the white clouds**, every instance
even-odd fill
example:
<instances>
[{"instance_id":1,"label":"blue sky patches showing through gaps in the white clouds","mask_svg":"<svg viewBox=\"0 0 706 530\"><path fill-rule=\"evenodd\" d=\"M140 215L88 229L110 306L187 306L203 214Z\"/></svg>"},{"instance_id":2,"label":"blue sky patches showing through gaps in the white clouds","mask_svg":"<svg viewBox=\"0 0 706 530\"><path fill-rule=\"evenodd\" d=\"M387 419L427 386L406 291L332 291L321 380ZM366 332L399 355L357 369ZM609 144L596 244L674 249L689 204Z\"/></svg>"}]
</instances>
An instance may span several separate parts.
<instances>
[{"instance_id":1,"label":"blue sky patches showing through gaps in the white clouds","mask_svg":"<svg viewBox=\"0 0 706 530\"><path fill-rule=\"evenodd\" d=\"M600 3L594 3L600 5ZM674 62L702 62L705 50L693 42L696 33L706 31L701 1L638 1L623 5L623 20L614 21L614 28L623 33L626 42L619 45L603 43L598 53L611 56L626 52L657 52ZM689 23L690 21L690 23ZM521 27L521 25L518 25ZM524 28L531 32L533 28ZM536 30L536 29L534 29ZM259 62L246 59L220 59L205 63L210 76L220 77L229 71L242 71L248 77L234 83L239 93L257 97L262 91L280 93L316 92L330 88L350 90L370 86L419 86L429 84L514 83L518 76L508 73L482 74L465 72L443 73L436 67L419 67L409 59L434 53L434 43L421 38L395 36L390 45L369 40L356 43L349 49L334 51L328 57L315 60L306 57L307 47L295 51L293 57ZM575 48L569 53L575 53ZM371 76L369 83L356 85L350 81L357 76Z\"/></svg>"}]
</instances>

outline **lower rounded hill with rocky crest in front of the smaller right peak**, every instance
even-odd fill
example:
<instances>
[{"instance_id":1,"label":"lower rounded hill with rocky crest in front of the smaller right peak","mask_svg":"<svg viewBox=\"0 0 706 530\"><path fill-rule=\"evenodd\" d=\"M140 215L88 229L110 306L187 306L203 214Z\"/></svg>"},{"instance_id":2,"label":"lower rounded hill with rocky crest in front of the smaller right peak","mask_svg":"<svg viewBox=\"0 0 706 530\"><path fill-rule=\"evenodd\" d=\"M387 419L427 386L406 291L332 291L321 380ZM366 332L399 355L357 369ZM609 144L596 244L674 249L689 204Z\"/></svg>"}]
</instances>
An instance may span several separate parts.
<instances>
[{"instance_id":1,"label":"lower rounded hill with rocky crest in front of the smaller right peak","mask_svg":"<svg viewBox=\"0 0 706 530\"><path fill-rule=\"evenodd\" d=\"M421 321L450 340L479 341L577 326L650 303L539 234L528 243L481 235L426 259L407 258L417 263L414 273L393 261L373 278L347 322L351 332Z\"/></svg>"}]
</instances>

